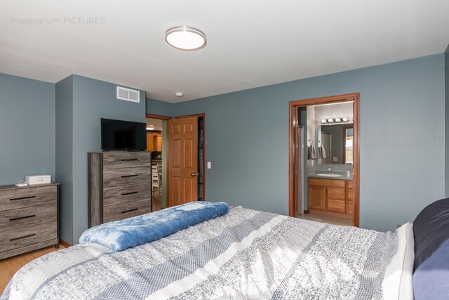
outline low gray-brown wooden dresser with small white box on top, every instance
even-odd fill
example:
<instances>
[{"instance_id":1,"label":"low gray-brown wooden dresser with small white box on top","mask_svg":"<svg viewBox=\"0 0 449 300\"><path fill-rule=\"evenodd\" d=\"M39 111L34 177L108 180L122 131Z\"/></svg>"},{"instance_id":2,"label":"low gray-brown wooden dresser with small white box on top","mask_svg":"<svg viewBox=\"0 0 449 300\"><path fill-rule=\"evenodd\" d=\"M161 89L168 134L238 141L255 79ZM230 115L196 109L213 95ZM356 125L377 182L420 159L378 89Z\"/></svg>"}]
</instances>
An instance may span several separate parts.
<instances>
[{"instance_id":1,"label":"low gray-brown wooden dresser with small white box on top","mask_svg":"<svg viewBox=\"0 0 449 300\"><path fill-rule=\"evenodd\" d=\"M0 186L0 259L59 247L59 184Z\"/></svg>"}]
</instances>

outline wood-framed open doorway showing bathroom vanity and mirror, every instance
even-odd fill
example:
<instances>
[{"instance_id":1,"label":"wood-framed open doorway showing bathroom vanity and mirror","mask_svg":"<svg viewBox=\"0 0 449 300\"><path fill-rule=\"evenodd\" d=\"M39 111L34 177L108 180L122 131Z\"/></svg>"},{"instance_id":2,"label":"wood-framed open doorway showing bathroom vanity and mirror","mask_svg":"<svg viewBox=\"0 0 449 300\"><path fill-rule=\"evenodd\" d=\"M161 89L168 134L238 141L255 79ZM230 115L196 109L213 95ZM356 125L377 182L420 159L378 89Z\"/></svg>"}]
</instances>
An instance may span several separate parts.
<instances>
[{"instance_id":1,"label":"wood-framed open doorway showing bathroom vanity and mirror","mask_svg":"<svg viewBox=\"0 0 449 300\"><path fill-rule=\"evenodd\" d=\"M289 215L359 225L359 93L291 101Z\"/></svg>"}]
</instances>

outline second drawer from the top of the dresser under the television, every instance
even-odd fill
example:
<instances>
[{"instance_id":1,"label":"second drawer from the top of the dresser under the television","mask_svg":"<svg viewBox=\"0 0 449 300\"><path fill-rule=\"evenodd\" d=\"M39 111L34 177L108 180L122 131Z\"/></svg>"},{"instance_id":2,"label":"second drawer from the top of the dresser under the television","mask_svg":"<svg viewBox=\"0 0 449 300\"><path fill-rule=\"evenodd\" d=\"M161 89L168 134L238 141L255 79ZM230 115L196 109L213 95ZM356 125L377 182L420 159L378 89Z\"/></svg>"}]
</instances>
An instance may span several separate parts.
<instances>
[{"instance_id":1,"label":"second drawer from the top of the dresser under the television","mask_svg":"<svg viewBox=\"0 0 449 300\"><path fill-rule=\"evenodd\" d=\"M103 172L103 188L149 183L151 182L151 171L151 167L105 169Z\"/></svg>"}]
</instances>

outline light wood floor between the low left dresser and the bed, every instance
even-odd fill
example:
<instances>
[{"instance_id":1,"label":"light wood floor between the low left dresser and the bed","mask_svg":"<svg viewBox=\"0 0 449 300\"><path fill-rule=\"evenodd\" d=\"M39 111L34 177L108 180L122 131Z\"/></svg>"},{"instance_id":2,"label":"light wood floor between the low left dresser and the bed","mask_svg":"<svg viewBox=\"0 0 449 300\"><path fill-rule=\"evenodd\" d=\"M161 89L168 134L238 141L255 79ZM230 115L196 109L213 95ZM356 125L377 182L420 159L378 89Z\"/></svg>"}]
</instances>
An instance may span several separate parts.
<instances>
[{"instance_id":1,"label":"light wood floor between the low left dresser and the bed","mask_svg":"<svg viewBox=\"0 0 449 300\"><path fill-rule=\"evenodd\" d=\"M0 295L1 293L3 293L6 285L8 285L9 280L13 278L15 272L17 272L20 268L22 268L22 266L25 266L33 259L37 259L39 256L43 256L43 254L47 254L64 248L65 247L60 244L59 249L55 249L55 247L52 246L36 250L33 252L13 256L10 257L9 259L0 260Z\"/></svg>"}]
</instances>

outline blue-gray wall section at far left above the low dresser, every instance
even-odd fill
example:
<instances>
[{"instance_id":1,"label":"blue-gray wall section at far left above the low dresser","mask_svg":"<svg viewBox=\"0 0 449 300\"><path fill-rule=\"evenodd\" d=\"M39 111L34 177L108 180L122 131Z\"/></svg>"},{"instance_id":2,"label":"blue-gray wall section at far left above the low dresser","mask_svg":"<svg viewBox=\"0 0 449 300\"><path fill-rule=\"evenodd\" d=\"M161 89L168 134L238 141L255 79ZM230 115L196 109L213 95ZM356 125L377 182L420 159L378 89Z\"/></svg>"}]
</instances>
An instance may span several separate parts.
<instances>
[{"instance_id":1,"label":"blue-gray wall section at far left above the low dresser","mask_svg":"<svg viewBox=\"0 0 449 300\"><path fill-rule=\"evenodd\" d=\"M55 176L55 84L0 73L0 185Z\"/></svg>"}]
</instances>

